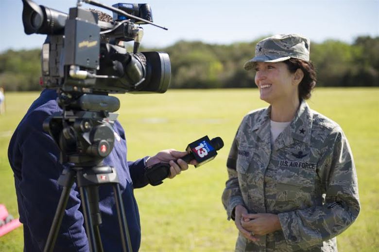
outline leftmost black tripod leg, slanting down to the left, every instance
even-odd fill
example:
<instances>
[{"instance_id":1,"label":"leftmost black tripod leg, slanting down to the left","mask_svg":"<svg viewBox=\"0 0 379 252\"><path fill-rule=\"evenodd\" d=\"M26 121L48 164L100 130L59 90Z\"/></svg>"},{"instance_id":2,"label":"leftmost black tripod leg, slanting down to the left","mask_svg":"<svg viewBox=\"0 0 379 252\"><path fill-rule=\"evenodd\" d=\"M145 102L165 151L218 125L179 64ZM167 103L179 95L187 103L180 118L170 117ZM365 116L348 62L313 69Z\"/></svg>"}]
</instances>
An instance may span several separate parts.
<instances>
[{"instance_id":1,"label":"leftmost black tripod leg, slanting down to the left","mask_svg":"<svg viewBox=\"0 0 379 252\"><path fill-rule=\"evenodd\" d=\"M55 211L54 219L52 220L52 226L50 227L49 236L46 241L44 252L52 252L54 249L55 241L62 224L63 216L65 214L67 202L69 201L70 190L74 184L75 171L65 169L61 177L62 180L64 180L63 190L61 197L59 198L59 203ZM59 179L61 179L61 177L59 177Z\"/></svg>"}]
</instances>

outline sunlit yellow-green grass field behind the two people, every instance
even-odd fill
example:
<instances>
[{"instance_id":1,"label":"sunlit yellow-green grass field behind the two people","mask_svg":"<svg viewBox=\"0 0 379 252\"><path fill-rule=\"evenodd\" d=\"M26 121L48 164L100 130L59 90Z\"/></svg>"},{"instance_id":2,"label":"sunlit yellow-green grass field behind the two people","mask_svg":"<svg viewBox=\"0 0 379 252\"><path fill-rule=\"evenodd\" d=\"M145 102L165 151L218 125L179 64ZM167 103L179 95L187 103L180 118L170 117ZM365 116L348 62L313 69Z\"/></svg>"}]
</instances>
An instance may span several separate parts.
<instances>
[{"instance_id":1,"label":"sunlit yellow-green grass field behind the two people","mask_svg":"<svg viewBox=\"0 0 379 252\"><path fill-rule=\"evenodd\" d=\"M6 94L0 115L0 204L17 217L7 147L13 130L38 93ZM243 115L264 107L256 89L170 90L166 94L118 96L119 120L128 140L128 159L162 149L184 150L204 135L220 136L225 147L210 163L135 190L142 225L140 251L233 251L237 229L226 221L221 194L228 151ZM379 89L317 89L310 107L342 126L353 150L362 211L338 237L339 251L379 249ZM22 228L0 237L1 252L22 251Z\"/></svg>"}]
</instances>

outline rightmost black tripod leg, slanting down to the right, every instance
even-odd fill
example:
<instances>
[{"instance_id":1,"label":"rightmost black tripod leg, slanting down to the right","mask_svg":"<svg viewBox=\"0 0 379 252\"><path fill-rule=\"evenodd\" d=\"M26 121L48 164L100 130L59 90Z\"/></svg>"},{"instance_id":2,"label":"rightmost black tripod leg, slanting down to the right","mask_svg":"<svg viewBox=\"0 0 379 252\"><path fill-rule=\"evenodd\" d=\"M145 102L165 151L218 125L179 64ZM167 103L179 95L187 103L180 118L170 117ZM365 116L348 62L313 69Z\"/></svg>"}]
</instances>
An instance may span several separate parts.
<instances>
[{"instance_id":1,"label":"rightmost black tripod leg, slanting down to the right","mask_svg":"<svg viewBox=\"0 0 379 252\"><path fill-rule=\"evenodd\" d=\"M124 209L124 205L122 203L122 197L121 197L121 192L120 192L120 185L119 184L113 185L113 191L115 193L117 216L119 218L122 249L123 249L124 252L127 252L127 251L128 252L133 252L132 243L130 241L128 224L126 222L126 217L125 217L125 209ZM126 250L125 241L127 242L128 250Z\"/></svg>"}]
</instances>

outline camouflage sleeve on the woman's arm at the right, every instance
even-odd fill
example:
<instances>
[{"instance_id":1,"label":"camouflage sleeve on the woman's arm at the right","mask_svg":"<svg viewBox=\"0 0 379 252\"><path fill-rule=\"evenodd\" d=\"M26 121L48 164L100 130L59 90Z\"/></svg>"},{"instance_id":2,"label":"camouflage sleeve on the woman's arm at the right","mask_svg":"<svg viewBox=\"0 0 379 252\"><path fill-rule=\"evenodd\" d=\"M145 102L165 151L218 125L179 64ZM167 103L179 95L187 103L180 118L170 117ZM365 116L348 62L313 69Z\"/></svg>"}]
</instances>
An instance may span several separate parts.
<instances>
[{"instance_id":1,"label":"camouflage sleeve on the woman's arm at the right","mask_svg":"<svg viewBox=\"0 0 379 252\"><path fill-rule=\"evenodd\" d=\"M360 211L358 181L350 146L340 127L325 142L319 176L325 204L278 214L289 245L307 248L341 234Z\"/></svg>"}]
</instances>

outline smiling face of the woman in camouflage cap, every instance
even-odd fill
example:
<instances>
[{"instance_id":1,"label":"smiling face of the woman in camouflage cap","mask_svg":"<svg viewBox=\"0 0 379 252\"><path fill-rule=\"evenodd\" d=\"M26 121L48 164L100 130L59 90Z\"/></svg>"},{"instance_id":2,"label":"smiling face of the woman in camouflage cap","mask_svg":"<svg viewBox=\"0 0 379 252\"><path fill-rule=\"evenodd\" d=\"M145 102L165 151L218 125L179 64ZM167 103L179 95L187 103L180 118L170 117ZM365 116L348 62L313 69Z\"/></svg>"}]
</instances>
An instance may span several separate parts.
<instances>
[{"instance_id":1,"label":"smiling face of the woman in camouflage cap","mask_svg":"<svg viewBox=\"0 0 379 252\"><path fill-rule=\"evenodd\" d=\"M261 100L281 106L298 100L297 71L291 73L282 62L257 62L255 70L255 83L259 88Z\"/></svg>"}]
</instances>

